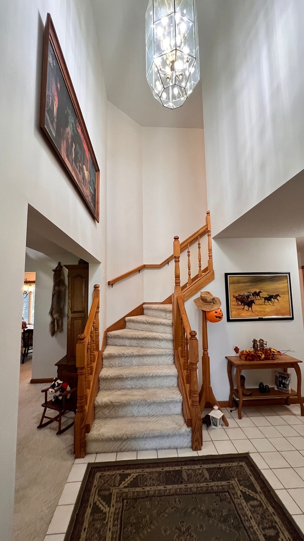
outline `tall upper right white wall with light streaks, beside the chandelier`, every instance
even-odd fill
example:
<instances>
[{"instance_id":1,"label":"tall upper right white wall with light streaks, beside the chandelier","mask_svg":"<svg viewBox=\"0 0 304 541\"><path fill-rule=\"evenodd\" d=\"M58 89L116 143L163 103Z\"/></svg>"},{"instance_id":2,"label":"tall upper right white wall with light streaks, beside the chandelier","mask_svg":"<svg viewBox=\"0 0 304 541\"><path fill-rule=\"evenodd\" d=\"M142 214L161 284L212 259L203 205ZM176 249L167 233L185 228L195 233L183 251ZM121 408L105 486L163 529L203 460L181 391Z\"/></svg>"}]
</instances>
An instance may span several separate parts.
<instances>
[{"instance_id":1,"label":"tall upper right white wall with light streaks, beside the chandelier","mask_svg":"<svg viewBox=\"0 0 304 541\"><path fill-rule=\"evenodd\" d=\"M302 0L223 3L202 74L213 234L303 169L303 55Z\"/></svg>"}]
</instances>

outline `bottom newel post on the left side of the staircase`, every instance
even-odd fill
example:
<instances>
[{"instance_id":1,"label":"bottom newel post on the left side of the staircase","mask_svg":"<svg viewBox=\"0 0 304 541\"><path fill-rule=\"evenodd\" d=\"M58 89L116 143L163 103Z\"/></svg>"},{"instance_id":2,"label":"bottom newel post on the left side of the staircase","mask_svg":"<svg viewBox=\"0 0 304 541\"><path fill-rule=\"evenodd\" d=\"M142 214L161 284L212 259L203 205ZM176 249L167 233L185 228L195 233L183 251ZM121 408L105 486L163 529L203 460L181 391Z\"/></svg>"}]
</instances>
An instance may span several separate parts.
<instances>
[{"instance_id":1,"label":"bottom newel post on the left side of the staircase","mask_svg":"<svg viewBox=\"0 0 304 541\"><path fill-rule=\"evenodd\" d=\"M76 344L76 366L78 371L77 412L74 427L74 452L76 458L85 457L85 402L87 393L85 385L86 350L85 334L80 334Z\"/></svg>"}]
</instances>

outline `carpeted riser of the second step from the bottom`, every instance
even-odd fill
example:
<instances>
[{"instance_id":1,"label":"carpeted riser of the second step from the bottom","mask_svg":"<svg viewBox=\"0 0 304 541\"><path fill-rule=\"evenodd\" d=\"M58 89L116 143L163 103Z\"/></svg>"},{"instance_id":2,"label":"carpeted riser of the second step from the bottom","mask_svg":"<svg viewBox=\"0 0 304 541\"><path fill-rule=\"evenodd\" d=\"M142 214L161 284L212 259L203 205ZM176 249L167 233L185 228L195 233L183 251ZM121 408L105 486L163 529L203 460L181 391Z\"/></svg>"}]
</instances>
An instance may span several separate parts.
<instances>
[{"instance_id":1,"label":"carpeted riser of the second step from the bottom","mask_svg":"<svg viewBox=\"0 0 304 541\"><path fill-rule=\"evenodd\" d=\"M182 412L180 401L148 404L127 404L120 406L98 406L95 408L95 418L114 419L117 417L145 417L146 415L175 415Z\"/></svg>"}]
</instances>

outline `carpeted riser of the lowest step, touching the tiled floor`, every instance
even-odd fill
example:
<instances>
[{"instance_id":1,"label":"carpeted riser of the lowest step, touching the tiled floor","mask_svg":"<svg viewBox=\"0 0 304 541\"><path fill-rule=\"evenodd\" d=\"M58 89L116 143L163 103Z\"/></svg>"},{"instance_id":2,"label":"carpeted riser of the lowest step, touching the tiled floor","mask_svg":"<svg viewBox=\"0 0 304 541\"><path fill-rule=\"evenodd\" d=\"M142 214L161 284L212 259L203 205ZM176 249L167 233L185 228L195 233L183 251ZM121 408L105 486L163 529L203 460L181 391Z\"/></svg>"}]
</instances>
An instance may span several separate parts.
<instances>
[{"instance_id":1,"label":"carpeted riser of the lowest step, touching the tiled floor","mask_svg":"<svg viewBox=\"0 0 304 541\"><path fill-rule=\"evenodd\" d=\"M89 434L87 438L89 437ZM87 440L87 453L112 453L120 451L150 451L154 449L191 448L191 435L158 436L154 438L138 438L127 440Z\"/></svg>"}]
</instances>

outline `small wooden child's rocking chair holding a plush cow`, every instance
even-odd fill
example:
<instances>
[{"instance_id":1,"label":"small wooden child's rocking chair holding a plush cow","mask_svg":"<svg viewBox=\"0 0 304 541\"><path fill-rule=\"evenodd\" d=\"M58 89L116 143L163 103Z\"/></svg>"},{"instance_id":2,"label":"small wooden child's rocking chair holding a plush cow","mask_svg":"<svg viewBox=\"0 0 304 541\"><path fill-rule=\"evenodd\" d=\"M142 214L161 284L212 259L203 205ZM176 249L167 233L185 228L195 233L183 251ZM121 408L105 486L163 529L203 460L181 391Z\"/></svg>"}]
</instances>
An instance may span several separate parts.
<instances>
[{"instance_id":1,"label":"small wooden child's rocking chair holding a plush cow","mask_svg":"<svg viewBox=\"0 0 304 541\"><path fill-rule=\"evenodd\" d=\"M77 378L77 374L72 374L74 381L75 381L75 375ZM68 378L64 381L68 381ZM71 381L71 380L70 380ZM69 385L71 386L69 382ZM44 393L44 403L41 404L43 409L43 414L40 420L39 425L37 428L42 428L43 426L47 426L50 423L53 423L53 421L57 421L58 423L58 431L56 434L62 434L68 428L70 428L72 425L74 425L75 419L72 420L72 422L65 426L64 428L61 428L61 422L62 422L62 415L67 413L68 411L72 411L76 414L76 408L77 408L77 385L73 388L71 388L69 391L65 391L62 393L62 401L61 403L53 402L52 400L48 400L48 391L50 387L47 387L45 389L42 389L42 393ZM70 398L68 398L68 395L70 394ZM49 417L49 415L46 414L47 410L54 410L57 412L55 413L54 417ZM44 421L44 419L48 419L48 421Z\"/></svg>"}]
</instances>

